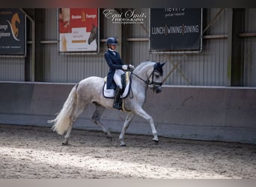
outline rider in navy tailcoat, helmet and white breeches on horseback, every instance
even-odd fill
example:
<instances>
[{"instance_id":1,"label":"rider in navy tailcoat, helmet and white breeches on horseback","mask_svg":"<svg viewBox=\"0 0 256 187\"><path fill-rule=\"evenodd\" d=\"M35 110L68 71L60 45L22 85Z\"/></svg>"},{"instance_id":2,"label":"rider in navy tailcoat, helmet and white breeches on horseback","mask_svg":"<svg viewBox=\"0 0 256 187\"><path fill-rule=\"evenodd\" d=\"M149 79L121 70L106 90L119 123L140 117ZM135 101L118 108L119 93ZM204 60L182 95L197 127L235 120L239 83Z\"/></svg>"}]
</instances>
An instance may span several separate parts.
<instances>
[{"instance_id":1,"label":"rider in navy tailcoat, helmet and white breeches on horseback","mask_svg":"<svg viewBox=\"0 0 256 187\"><path fill-rule=\"evenodd\" d=\"M105 52L104 57L109 65L109 73L107 78L107 89L115 89L113 108L122 109L121 106L121 92L123 85L121 83L121 76L125 70L133 68L132 65L126 65L121 60L118 52L115 51L118 45L118 40L115 37L109 37L106 41L108 50Z\"/></svg>"}]
</instances>

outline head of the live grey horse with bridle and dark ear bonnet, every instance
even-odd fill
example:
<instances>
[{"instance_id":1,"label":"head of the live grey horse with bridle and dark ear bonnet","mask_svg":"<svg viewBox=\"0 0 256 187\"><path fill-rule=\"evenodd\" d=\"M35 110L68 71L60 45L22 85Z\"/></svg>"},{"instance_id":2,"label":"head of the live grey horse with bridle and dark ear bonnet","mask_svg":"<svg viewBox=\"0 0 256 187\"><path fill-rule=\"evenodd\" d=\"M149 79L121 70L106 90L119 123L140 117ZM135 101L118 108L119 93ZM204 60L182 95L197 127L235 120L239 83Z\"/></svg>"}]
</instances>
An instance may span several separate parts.
<instances>
[{"instance_id":1,"label":"head of the live grey horse with bridle and dark ear bonnet","mask_svg":"<svg viewBox=\"0 0 256 187\"><path fill-rule=\"evenodd\" d=\"M162 92L162 67L165 63L159 63L153 65L153 71L150 74L150 83L149 85L152 86L153 92L161 93Z\"/></svg>"}]
</instances>

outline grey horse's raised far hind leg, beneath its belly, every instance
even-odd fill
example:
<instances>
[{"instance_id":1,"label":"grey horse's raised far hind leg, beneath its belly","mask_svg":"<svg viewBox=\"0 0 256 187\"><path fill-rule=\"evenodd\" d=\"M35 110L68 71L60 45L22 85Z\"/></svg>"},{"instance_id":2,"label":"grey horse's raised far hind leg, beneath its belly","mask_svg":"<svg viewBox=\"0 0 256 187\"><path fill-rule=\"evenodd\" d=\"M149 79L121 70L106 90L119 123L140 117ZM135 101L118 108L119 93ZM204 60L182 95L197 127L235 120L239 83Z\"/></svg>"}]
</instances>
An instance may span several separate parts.
<instances>
[{"instance_id":1,"label":"grey horse's raised far hind leg, beneath its belly","mask_svg":"<svg viewBox=\"0 0 256 187\"><path fill-rule=\"evenodd\" d=\"M91 120L97 125L100 126L101 129L103 129L103 132L107 135L108 138L112 138L111 133L108 129L106 129L105 126L100 122L100 117L103 114L103 111L105 111L105 108L102 105L99 105L97 102L94 102L94 105L96 107L93 116L91 117Z\"/></svg>"}]
</instances>

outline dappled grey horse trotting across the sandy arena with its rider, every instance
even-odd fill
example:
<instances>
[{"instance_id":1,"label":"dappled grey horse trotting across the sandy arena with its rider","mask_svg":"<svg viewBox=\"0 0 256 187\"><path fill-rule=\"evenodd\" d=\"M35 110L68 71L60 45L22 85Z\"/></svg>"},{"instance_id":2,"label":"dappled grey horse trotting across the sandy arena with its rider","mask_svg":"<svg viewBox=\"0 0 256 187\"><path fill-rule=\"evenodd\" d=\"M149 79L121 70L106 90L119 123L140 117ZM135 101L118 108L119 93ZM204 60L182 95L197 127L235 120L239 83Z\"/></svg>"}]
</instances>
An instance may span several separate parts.
<instances>
[{"instance_id":1,"label":"dappled grey horse trotting across the sandy arena with its rider","mask_svg":"<svg viewBox=\"0 0 256 187\"><path fill-rule=\"evenodd\" d=\"M150 123L153 141L158 142L153 118L143 110L142 105L146 99L146 90L149 86L153 88L154 92L161 92L163 65L164 63L145 61L139 64L138 67L131 72L131 91L129 92L129 96L123 100L125 111L128 114L119 136L121 146L126 145L124 143L124 134L135 114L143 117ZM55 120L49 120L49 123L54 123L52 126L53 131L58 132L60 135L64 135L64 133L67 132L62 144L68 144L73 123L91 102L94 103L96 107L92 120L97 126L100 126L103 129L103 132L105 132L108 137L112 137L109 130L100 122L101 114L103 114L105 108L112 108L113 105L113 99L108 99L103 96L104 83L104 79L97 76L83 79L70 91L66 102L64 102L63 108L58 113Z\"/></svg>"}]
</instances>

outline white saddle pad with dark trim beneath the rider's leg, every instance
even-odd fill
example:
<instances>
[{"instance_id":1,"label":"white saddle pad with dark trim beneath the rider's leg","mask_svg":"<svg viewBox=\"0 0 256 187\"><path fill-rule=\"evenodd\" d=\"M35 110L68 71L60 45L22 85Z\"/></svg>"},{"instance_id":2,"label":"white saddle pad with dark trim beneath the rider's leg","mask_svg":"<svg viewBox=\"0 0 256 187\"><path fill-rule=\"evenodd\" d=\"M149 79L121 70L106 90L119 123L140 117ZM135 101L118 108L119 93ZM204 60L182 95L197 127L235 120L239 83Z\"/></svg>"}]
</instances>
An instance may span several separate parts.
<instances>
[{"instance_id":1,"label":"white saddle pad with dark trim beneath the rider's leg","mask_svg":"<svg viewBox=\"0 0 256 187\"><path fill-rule=\"evenodd\" d=\"M130 72L125 73L121 77L121 82L123 85L122 93L121 93L121 99L126 98L129 95L129 88L130 88ZM104 86L103 86L103 96L109 99L114 99L115 96L115 89L106 89L106 81L107 77L104 78Z\"/></svg>"}]
</instances>

